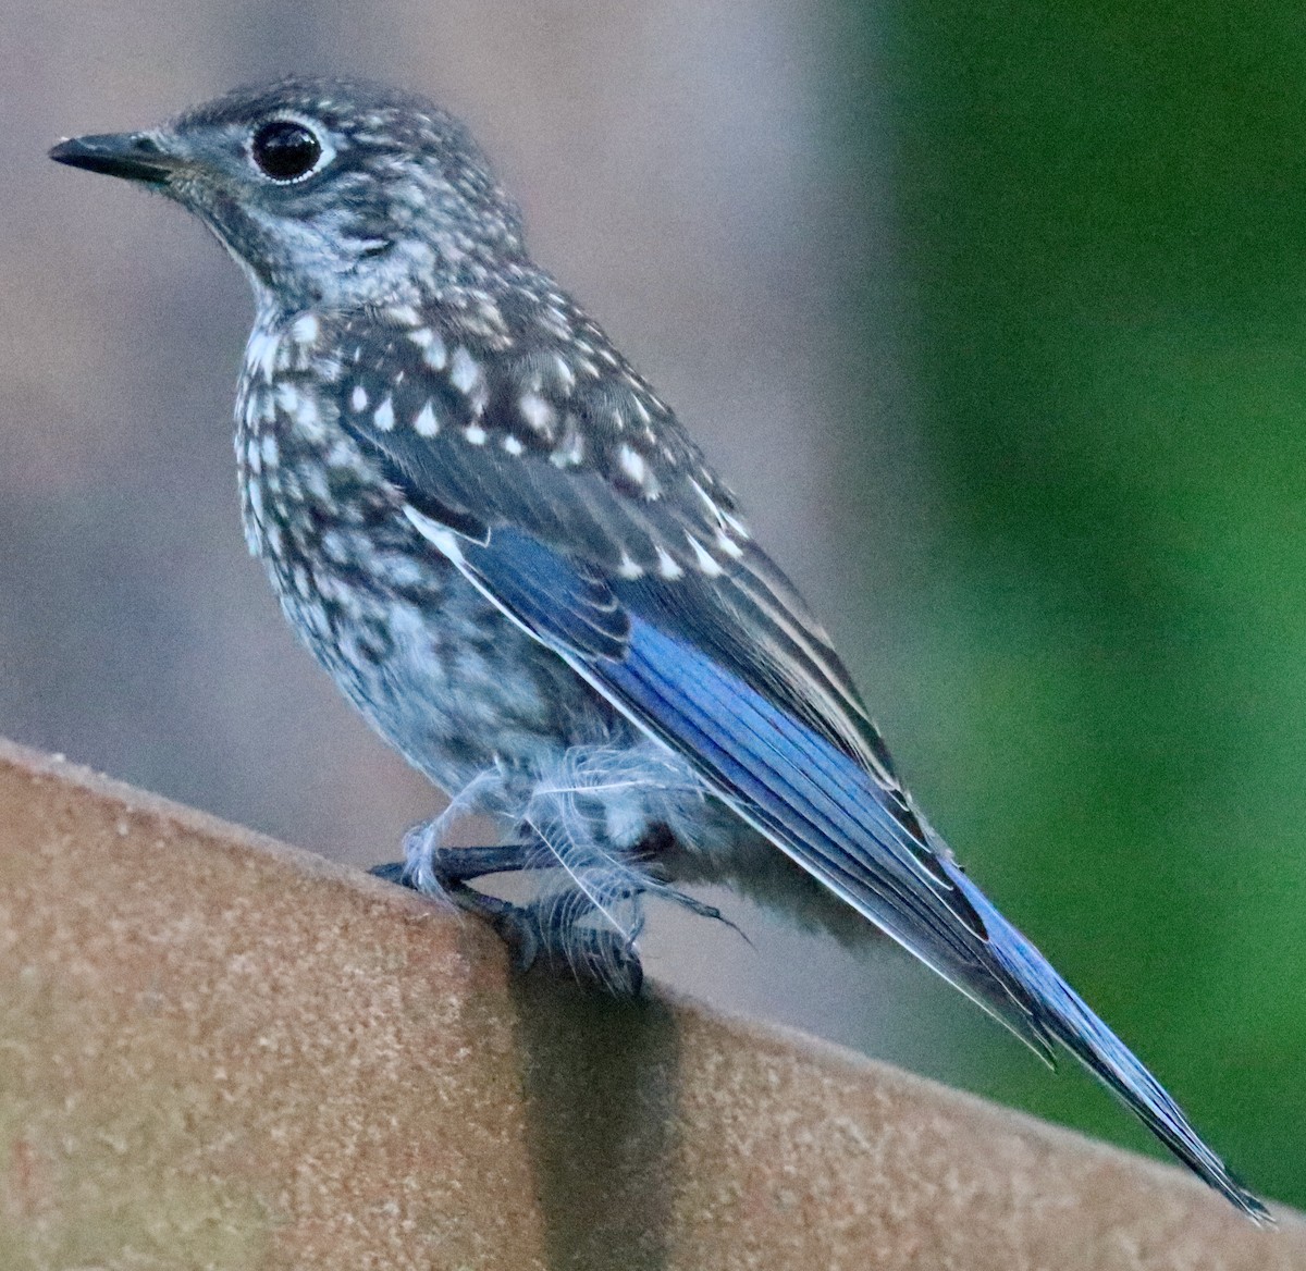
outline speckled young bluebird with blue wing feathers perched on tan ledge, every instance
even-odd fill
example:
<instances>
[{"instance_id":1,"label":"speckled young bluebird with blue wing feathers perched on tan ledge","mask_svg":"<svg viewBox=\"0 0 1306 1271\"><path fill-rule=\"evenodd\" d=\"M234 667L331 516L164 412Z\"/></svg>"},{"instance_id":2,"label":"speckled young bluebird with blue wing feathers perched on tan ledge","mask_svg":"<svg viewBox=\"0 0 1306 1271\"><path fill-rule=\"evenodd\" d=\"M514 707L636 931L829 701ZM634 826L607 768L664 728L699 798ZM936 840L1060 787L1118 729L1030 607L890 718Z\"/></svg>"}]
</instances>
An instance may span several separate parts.
<instances>
[{"instance_id":1,"label":"speckled young bluebird with blue wing feathers perched on tan ledge","mask_svg":"<svg viewBox=\"0 0 1306 1271\"><path fill-rule=\"evenodd\" d=\"M640 989L646 899L720 917L693 883L882 933L1271 1221L957 863L739 500L535 264L457 118L299 76L50 155L180 204L249 280L249 550L346 698L451 797L383 877L616 993ZM451 846L470 814L502 841ZM538 897L473 886L505 871Z\"/></svg>"}]
</instances>

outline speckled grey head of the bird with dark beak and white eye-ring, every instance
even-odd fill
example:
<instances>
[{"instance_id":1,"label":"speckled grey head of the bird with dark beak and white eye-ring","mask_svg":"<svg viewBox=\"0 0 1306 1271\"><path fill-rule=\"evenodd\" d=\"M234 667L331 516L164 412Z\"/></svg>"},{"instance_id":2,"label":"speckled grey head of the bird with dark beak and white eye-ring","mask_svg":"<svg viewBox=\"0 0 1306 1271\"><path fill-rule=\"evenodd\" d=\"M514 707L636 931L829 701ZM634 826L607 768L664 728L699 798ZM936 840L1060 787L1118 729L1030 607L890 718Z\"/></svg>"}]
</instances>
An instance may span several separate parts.
<instances>
[{"instance_id":1,"label":"speckled grey head of the bird with dark beak and white eye-ring","mask_svg":"<svg viewBox=\"0 0 1306 1271\"><path fill-rule=\"evenodd\" d=\"M259 300L419 300L522 252L517 209L452 115L338 80L238 89L162 128L50 152L174 199L244 266Z\"/></svg>"}]
</instances>

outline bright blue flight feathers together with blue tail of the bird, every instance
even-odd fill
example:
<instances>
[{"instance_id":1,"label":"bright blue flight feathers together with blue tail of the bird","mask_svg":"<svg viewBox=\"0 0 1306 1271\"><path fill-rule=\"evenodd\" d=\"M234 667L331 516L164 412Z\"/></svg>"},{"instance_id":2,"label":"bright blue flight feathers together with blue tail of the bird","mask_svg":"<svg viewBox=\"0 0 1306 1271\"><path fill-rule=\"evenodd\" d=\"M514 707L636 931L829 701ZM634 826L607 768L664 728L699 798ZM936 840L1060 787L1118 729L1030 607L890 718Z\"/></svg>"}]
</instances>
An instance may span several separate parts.
<instances>
[{"instance_id":1,"label":"bright blue flight feathers together with blue tail of the bird","mask_svg":"<svg viewBox=\"0 0 1306 1271\"><path fill-rule=\"evenodd\" d=\"M1182 1109L1038 950L930 844L936 870L905 852L905 827L875 775L684 637L679 598L636 603L520 530L466 553L469 576L802 866L1040 1053L1060 1041L1190 1169L1259 1219L1264 1206L1202 1140ZM665 584L671 588L674 584ZM620 600L618 600L620 592ZM633 611L632 611L633 610ZM700 615L707 630L717 620ZM596 641L602 632L602 641ZM710 644L720 641L713 634ZM616 651L616 645L620 645Z\"/></svg>"}]
</instances>

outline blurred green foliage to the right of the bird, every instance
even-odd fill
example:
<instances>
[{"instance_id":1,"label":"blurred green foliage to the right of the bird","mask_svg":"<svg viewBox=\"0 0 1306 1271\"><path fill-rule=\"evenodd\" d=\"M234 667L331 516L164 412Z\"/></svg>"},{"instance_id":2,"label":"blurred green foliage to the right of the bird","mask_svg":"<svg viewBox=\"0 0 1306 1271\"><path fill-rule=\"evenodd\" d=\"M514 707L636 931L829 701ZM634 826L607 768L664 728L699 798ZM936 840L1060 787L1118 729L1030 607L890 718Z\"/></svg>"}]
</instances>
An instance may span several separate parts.
<instances>
[{"instance_id":1,"label":"blurred green foliage to the right of the bird","mask_svg":"<svg viewBox=\"0 0 1306 1271\"><path fill-rule=\"evenodd\" d=\"M943 500L922 801L1247 1181L1306 1206L1306 10L842 17L895 107ZM974 1088L1141 1144L1087 1082L976 1053Z\"/></svg>"}]
</instances>

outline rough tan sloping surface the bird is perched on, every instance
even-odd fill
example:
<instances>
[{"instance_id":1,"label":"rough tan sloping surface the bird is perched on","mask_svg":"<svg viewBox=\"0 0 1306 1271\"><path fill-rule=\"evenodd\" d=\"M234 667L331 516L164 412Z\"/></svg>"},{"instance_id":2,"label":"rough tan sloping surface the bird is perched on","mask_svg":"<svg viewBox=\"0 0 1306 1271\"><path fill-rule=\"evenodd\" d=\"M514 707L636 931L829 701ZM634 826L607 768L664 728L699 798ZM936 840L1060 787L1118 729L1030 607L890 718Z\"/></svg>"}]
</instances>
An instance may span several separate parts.
<instances>
[{"instance_id":1,"label":"rough tan sloping surface the bird is perched on","mask_svg":"<svg viewBox=\"0 0 1306 1271\"><path fill-rule=\"evenodd\" d=\"M0 1267L1306 1268L1182 1172L0 745Z\"/></svg>"}]
</instances>

